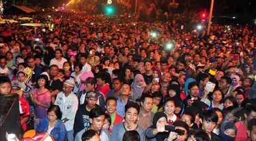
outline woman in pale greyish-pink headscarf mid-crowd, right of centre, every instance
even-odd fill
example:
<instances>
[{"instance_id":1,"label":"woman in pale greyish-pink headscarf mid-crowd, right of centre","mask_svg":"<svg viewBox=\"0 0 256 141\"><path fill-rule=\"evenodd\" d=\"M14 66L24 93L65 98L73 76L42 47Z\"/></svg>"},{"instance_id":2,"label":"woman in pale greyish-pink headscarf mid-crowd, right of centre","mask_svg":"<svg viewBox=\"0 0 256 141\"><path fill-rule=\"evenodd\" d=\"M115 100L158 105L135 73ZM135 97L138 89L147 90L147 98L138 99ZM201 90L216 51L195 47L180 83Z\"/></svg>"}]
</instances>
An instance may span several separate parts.
<instances>
[{"instance_id":1,"label":"woman in pale greyish-pink headscarf mid-crowd, right of centre","mask_svg":"<svg viewBox=\"0 0 256 141\"><path fill-rule=\"evenodd\" d=\"M135 76L134 82L132 84L132 100L136 101L141 98L144 88L146 87L144 77L141 74Z\"/></svg>"}]
</instances>

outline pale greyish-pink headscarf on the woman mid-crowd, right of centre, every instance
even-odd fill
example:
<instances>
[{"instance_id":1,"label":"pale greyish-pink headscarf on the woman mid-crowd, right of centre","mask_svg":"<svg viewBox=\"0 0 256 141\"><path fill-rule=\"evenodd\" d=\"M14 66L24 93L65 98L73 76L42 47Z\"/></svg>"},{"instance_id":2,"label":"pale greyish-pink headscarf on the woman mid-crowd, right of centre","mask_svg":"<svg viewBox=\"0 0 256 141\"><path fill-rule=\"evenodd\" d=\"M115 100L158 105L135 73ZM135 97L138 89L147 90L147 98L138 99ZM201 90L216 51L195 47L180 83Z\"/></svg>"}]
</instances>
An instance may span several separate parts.
<instances>
[{"instance_id":1,"label":"pale greyish-pink headscarf on the woman mid-crowd, right of centre","mask_svg":"<svg viewBox=\"0 0 256 141\"><path fill-rule=\"evenodd\" d=\"M135 76L134 83L132 84L132 90L131 90L133 93L132 100L137 100L138 98L141 98L141 95L145 88L145 87L138 87L137 81L139 81L139 80L143 80L143 83L145 83L143 75L138 74Z\"/></svg>"}]
</instances>

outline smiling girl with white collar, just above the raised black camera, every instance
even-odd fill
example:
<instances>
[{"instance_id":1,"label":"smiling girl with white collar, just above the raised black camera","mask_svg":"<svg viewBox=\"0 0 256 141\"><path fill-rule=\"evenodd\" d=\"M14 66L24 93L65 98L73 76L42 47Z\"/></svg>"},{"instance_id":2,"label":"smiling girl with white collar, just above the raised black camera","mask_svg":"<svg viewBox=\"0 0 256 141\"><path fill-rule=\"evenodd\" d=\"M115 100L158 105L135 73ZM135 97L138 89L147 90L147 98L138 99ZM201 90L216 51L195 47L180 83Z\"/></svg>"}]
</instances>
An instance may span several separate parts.
<instances>
[{"instance_id":1,"label":"smiling girl with white collar, just above the raised black camera","mask_svg":"<svg viewBox=\"0 0 256 141\"><path fill-rule=\"evenodd\" d=\"M173 125L175 121L180 120L180 118L174 114L176 110L176 106L175 106L175 101L172 98L167 98L167 100L165 100L164 109L165 109L165 114L167 115L167 123L169 125Z\"/></svg>"}]
</instances>

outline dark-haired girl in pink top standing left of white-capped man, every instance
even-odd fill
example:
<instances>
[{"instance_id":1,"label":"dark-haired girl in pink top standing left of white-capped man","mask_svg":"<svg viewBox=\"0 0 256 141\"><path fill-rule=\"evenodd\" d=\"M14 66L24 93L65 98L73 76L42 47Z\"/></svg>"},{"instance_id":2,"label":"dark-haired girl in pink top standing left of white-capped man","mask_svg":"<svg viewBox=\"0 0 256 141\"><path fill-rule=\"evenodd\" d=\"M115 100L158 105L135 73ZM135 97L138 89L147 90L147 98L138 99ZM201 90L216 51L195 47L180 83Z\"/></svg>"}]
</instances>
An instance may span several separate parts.
<instances>
[{"instance_id":1,"label":"dark-haired girl in pink top standing left of white-capped man","mask_svg":"<svg viewBox=\"0 0 256 141\"><path fill-rule=\"evenodd\" d=\"M47 89L49 79L47 75L38 77L38 84L34 89L31 100L35 105L34 127L38 126L42 119L47 117L47 109L51 106L51 93ZM31 93L30 93L31 94Z\"/></svg>"}]
</instances>

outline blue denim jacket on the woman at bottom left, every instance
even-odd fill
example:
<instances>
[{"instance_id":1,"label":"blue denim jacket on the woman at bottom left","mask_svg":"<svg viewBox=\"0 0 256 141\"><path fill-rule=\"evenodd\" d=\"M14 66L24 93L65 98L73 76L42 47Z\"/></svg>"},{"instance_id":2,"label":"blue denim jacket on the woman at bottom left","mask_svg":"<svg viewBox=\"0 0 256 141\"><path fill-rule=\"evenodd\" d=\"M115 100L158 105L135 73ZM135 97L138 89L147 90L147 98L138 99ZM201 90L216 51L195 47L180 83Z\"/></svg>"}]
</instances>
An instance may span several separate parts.
<instances>
[{"instance_id":1,"label":"blue denim jacket on the woman at bottom left","mask_svg":"<svg viewBox=\"0 0 256 141\"><path fill-rule=\"evenodd\" d=\"M38 133L46 133L48 131L49 119L44 118L36 127L35 131ZM66 138L66 127L60 119L57 119L54 128L51 131L51 136L55 141L63 141Z\"/></svg>"}]
</instances>

